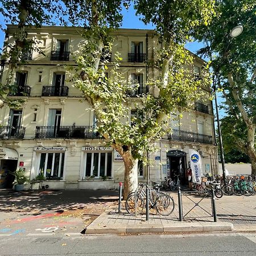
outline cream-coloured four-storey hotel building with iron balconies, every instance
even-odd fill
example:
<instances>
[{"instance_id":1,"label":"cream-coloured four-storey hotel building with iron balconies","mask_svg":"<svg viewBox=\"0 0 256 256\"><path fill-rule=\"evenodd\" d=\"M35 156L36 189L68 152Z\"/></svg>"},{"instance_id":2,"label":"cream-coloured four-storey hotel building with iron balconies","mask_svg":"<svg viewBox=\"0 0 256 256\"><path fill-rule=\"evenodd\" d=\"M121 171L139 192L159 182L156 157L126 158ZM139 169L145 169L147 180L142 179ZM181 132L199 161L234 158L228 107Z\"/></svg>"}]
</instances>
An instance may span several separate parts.
<instances>
[{"instance_id":1,"label":"cream-coloured four-storey hotel building with iron balconies","mask_svg":"<svg viewBox=\"0 0 256 256\"><path fill-rule=\"evenodd\" d=\"M10 43L15 28L8 27L6 40ZM26 104L19 109L7 105L0 109L0 187L10 187L12 177L7 170L25 168L31 180L42 173L46 180L40 185L49 189L117 188L124 177L122 159L112 147L102 144L88 102L80 90L65 81L63 64L76 65L71 53L77 51L81 36L72 27L30 28L28 36L38 42L44 55L28 53L24 56L27 64L13 77L19 90L9 97L24 98ZM114 39L113 52L121 53L120 67L126 80L138 80L138 93L154 93L143 86L156 72L146 64L157 47L154 31L119 29ZM200 73L203 64L196 57L191 68ZM7 63L1 74L3 83L6 76ZM148 154L152 164L139 165L139 181L163 181L172 170L178 170L185 181L189 148L202 156L205 174L216 173L213 119L209 101L197 102L195 111L173 121L172 135L156 143L159 151ZM36 186L38 183L28 184L27 188Z\"/></svg>"}]
</instances>

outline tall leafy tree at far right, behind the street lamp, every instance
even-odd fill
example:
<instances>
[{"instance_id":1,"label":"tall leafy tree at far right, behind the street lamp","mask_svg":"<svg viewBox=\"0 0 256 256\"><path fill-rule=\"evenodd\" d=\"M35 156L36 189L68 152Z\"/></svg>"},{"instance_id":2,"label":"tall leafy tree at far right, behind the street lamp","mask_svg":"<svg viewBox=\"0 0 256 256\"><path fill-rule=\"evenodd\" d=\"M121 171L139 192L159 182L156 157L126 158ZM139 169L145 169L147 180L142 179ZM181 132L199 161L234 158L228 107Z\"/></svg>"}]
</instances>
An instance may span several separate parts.
<instances>
[{"instance_id":1,"label":"tall leafy tree at far right, behind the street lamp","mask_svg":"<svg viewBox=\"0 0 256 256\"><path fill-rule=\"evenodd\" d=\"M238 150L249 156L251 174L256 174L256 1L218 0L217 16L196 38L205 43L201 49L212 59L216 85L225 98L226 114L232 127L229 136ZM236 38L229 33L237 25L243 32ZM224 120L225 121L225 120Z\"/></svg>"}]
</instances>

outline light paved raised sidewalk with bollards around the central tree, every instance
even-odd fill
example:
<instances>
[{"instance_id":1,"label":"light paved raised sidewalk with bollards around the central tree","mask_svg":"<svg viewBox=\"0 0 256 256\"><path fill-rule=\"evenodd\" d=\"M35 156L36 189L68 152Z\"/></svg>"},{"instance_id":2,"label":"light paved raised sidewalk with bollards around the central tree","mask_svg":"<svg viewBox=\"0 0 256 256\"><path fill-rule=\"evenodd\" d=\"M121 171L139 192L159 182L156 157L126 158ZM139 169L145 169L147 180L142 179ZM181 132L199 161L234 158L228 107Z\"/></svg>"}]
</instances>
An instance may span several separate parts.
<instances>
[{"instance_id":1,"label":"light paved raised sidewalk with bollards around the central tree","mask_svg":"<svg viewBox=\"0 0 256 256\"><path fill-rule=\"evenodd\" d=\"M121 212L118 206L105 210L90 224L85 234L99 233L190 233L190 232L256 232L256 195L224 196L216 199L217 222L213 221L210 199L197 195L183 196L183 216L179 221L177 193L172 192L175 200L175 210L170 216L150 214L137 217L128 214L122 202ZM194 202L194 203L193 203ZM199 204L199 205L196 205Z\"/></svg>"}]
</instances>

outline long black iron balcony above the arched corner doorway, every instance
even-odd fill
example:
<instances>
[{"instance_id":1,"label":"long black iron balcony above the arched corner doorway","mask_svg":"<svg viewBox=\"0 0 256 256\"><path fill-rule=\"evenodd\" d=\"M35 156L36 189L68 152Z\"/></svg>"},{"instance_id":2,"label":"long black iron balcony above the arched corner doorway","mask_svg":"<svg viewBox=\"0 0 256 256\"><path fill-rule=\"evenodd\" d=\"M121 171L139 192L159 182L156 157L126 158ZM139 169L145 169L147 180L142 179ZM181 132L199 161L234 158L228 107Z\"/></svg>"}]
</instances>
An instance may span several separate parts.
<instances>
[{"instance_id":1,"label":"long black iron balcony above the arched corner doorway","mask_svg":"<svg viewBox=\"0 0 256 256\"><path fill-rule=\"evenodd\" d=\"M168 135L170 141L184 141L203 144L213 144L213 138L210 135L192 133L191 131L172 130L172 134Z\"/></svg>"}]
</instances>

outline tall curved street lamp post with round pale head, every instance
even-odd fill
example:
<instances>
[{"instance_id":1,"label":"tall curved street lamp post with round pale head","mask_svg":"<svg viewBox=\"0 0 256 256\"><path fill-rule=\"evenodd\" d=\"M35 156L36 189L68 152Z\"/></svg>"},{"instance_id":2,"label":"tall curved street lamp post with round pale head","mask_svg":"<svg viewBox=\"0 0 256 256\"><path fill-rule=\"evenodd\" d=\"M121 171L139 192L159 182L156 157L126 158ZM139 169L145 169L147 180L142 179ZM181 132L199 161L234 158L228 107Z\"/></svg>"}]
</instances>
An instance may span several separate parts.
<instances>
[{"instance_id":1,"label":"tall curved street lamp post with round pale head","mask_svg":"<svg viewBox=\"0 0 256 256\"><path fill-rule=\"evenodd\" d=\"M243 31L243 27L242 26L236 26L236 27L234 27L230 31L230 33L229 33L230 40L229 40L228 46L226 47L226 49L225 49L225 51L224 51L224 53L222 55L222 60L224 59L226 51L228 51L228 47L229 47L229 44L231 43L232 39L236 38L239 35L241 35L242 31ZM215 72L215 76L216 77L218 77L219 71L220 71L220 66L218 67L217 71ZM215 108L216 108L216 118L217 118L217 126L218 126L218 142L219 142L219 145L220 145L220 158L221 158L222 176L223 176L224 184L226 184L225 159L224 159L224 150L223 150L223 144L222 144L220 117L219 117L219 114L218 114L218 102L217 102L217 93L216 93L216 79L213 81L213 89L214 89L214 94L215 94Z\"/></svg>"}]
</instances>

